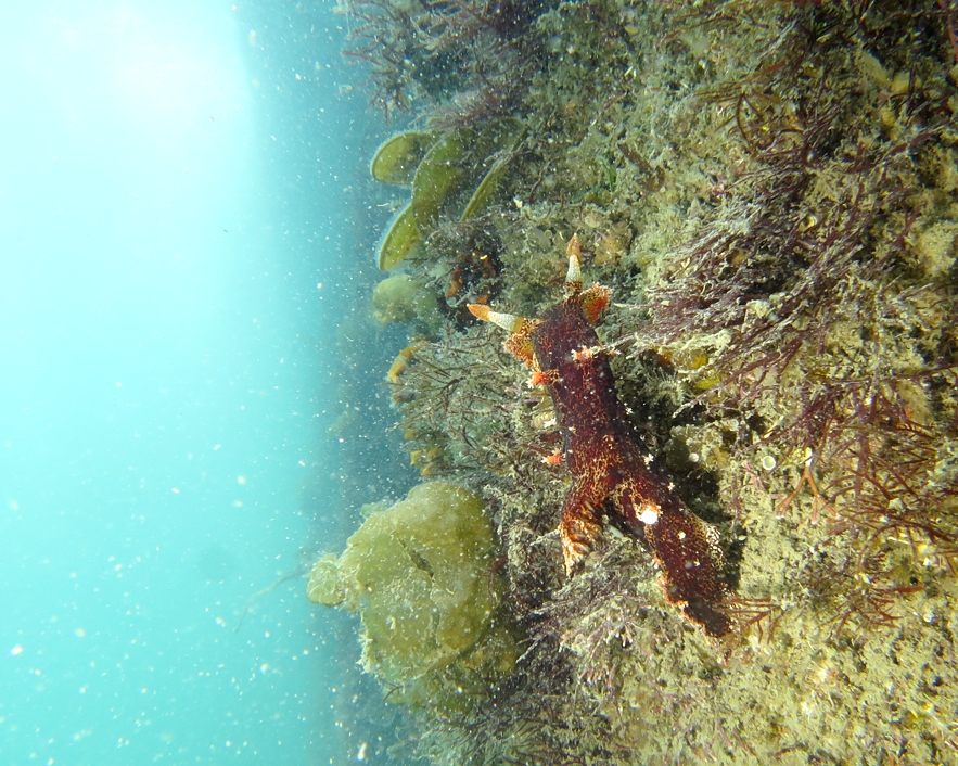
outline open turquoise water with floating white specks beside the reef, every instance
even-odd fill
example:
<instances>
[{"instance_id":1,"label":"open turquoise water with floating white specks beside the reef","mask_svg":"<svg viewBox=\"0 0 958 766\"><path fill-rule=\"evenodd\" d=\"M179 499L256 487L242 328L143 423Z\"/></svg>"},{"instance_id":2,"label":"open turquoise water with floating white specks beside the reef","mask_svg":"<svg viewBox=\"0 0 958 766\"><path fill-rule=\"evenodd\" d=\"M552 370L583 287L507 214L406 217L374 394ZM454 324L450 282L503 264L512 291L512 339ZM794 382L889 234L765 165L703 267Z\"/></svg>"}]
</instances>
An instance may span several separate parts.
<instances>
[{"instance_id":1,"label":"open turquoise water with floating white specks beside the reef","mask_svg":"<svg viewBox=\"0 0 958 766\"><path fill-rule=\"evenodd\" d=\"M355 763L343 18L0 8L0 764Z\"/></svg>"}]
</instances>

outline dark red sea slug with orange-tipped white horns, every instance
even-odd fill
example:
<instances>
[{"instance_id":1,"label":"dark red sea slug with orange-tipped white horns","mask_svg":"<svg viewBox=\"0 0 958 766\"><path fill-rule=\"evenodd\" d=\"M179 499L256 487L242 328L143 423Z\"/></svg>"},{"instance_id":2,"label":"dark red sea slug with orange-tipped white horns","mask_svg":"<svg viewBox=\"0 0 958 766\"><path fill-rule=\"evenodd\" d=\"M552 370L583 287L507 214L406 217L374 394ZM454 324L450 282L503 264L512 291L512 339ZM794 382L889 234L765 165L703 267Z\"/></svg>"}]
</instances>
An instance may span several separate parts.
<instances>
[{"instance_id":1,"label":"dark red sea slug with orange-tipped white horns","mask_svg":"<svg viewBox=\"0 0 958 766\"><path fill-rule=\"evenodd\" d=\"M651 550L666 600L708 636L724 636L731 618L720 609L729 589L718 532L686 507L640 446L615 391L612 352L595 330L611 291L598 283L583 290L578 237L567 254L565 299L541 319L469 306L478 319L511 333L506 348L552 397L573 477L559 526L565 571L572 574L599 539L605 513Z\"/></svg>"}]
</instances>

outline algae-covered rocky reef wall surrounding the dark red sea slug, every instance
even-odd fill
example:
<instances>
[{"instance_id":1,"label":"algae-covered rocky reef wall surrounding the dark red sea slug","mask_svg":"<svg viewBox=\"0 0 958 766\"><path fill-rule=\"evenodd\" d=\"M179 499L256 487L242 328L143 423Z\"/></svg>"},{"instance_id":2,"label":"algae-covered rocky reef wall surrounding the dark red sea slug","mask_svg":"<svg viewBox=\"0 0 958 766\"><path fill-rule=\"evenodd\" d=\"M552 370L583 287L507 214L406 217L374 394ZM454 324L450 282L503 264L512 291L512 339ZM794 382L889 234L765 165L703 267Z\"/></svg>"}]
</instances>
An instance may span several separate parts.
<instances>
[{"instance_id":1,"label":"algae-covered rocky reef wall surrounding the dark red sea slug","mask_svg":"<svg viewBox=\"0 0 958 766\"><path fill-rule=\"evenodd\" d=\"M958 9L532 5L352 4L391 113L522 124L459 152L507 168L483 208L437 206L391 261L418 296L391 308L409 341L376 374L414 470L482 496L523 653L468 705L417 698L397 753L954 763ZM552 404L462 310L539 316L575 232L612 288L598 332L631 425L720 532L721 640L612 525L564 573Z\"/></svg>"}]
</instances>

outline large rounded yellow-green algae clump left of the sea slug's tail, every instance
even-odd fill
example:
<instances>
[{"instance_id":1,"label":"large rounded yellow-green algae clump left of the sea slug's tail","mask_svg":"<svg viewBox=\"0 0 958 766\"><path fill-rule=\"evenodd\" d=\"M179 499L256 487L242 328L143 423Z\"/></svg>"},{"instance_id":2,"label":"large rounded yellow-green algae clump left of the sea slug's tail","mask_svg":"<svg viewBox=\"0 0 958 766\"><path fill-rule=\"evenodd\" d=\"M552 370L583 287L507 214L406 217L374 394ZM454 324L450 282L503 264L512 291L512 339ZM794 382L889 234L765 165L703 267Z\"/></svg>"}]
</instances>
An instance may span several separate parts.
<instances>
[{"instance_id":1,"label":"large rounded yellow-green algae clump left of the sea slug's tail","mask_svg":"<svg viewBox=\"0 0 958 766\"><path fill-rule=\"evenodd\" d=\"M448 482L420 484L372 512L339 558L318 561L307 596L359 612L362 665L398 687L391 700L458 706L463 679L501 675L516 655L494 618L494 546L477 495Z\"/></svg>"}]
</instances>

